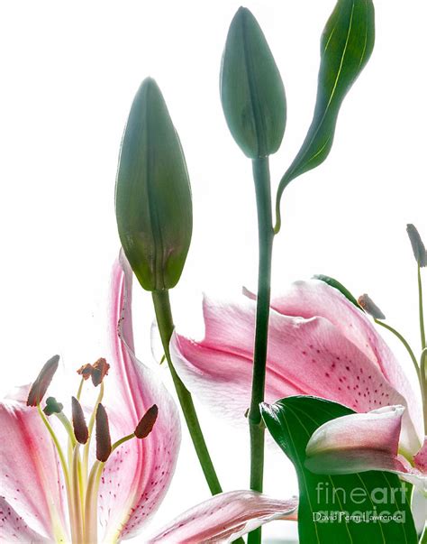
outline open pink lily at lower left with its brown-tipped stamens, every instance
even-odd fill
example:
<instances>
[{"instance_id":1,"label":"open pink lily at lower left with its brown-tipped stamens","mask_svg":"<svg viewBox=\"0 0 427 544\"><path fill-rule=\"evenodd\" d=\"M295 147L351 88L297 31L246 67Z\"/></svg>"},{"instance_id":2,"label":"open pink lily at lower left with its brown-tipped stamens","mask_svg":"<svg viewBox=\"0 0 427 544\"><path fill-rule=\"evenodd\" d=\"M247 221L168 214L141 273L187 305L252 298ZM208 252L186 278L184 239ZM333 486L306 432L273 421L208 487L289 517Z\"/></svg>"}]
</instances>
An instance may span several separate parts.
<instances>
[{"instance_id":1,"label":"open pink lily at lower left with its brown-tipped stamens","mask_svg":"<svg viewBox=\"0 0 427 544\"><path fill-rule=\"evenodd\" d=\"M112 281L111 367L100 359L78 371L80 390L89 377L100 386L95 429L90 422L87 428L76 398L72 425L51 397L41 410L57 356L45 364L30 391L18 388L0 401L0 541L119 542L136 536L159 508L175 469L180 424L175 402L134 355L131 299L132 272L122 256ZM60 429L50 424L53 413L73 437L68 460ZM96 451L89 455L92 430ZM90 472L86 463L93 463ZM221 493L184 512L152 542L229 542L268 521L295 519L296 506L295 498Z\"/></svg>"}]
</instances>

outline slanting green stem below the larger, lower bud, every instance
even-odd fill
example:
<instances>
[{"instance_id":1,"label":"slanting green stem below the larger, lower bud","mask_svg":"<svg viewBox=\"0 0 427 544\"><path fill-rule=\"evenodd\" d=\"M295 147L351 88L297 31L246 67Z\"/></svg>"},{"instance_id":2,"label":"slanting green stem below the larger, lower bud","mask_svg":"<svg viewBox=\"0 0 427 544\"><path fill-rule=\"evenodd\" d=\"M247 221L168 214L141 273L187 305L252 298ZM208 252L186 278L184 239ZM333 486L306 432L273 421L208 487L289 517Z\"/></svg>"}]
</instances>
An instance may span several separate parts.
<instances>
[{"instance_id":1,"label":"slanting green stem below the larger, lower bud","mask_svg":"<svg viewBox=\"0 0 427 544\"><path fill-rule=\"evenodd\" d=\"M161 343L163 345L163 349L165 350L170 373L172 374L172 380L174 382L175 389L177 390L177 397L186 419L186 425L190 432L191 439L193 440L195 453L200 461L200 465L202 466L202 470L204 472L204 477L206 478L206 482L209 485L211 493L213 495L222 493L223 490L221 488L221 484L219 483L218 476L215 473L213 462L206 447L202 429L200 428L200 424L197 419L197 414L195 413L193 399L190 392L188 392L186 386L184 383L182 383L181 379L177 375L177 371L175 370L170 358L169 342L174 331L174 323L170 309L168 290L154 290L152 292L152 298L159 325Z\"/></svg>"}]
</instances>

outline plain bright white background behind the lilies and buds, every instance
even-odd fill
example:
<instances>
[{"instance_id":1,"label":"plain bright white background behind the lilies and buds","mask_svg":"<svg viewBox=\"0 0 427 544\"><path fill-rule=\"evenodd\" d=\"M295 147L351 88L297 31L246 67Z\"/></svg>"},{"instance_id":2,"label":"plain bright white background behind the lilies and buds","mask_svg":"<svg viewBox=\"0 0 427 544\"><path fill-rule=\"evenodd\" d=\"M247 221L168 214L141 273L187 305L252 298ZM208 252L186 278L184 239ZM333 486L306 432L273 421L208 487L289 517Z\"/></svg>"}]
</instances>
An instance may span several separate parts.
<instances>
[{"instance_id":1,"label":"plain bright white background behind the lilies and buds","mask_svg":"<svg viewBox=\"0 0 427 544\"><path fill-rule=\"evenodd\" d=\"M271 159L274 188L313 114L319 40L333 5L247 3L286 87L285 139ZM286 189L273 286L330 274L356 295L368 291L418 349L416 269L405 224L413 222L427 238L427 5L377 0L376 6L374 55L342 107L332 153ZM109 273L119 248L117 155L146 76L157 79L168 103L194 193L193 243L172 293L178 326L200 326L203 290L255 286L250 161L232 141L218 92L223 44L238 7L232 0L1 5L2 392L32 381L54 353L70 368L106 353ZM137 347L150 363L150 295L137 289L136 299ZM201 413L224 487L246 487L245 435ZM268 459L266 491L295 493L286 459ZM185 435L177 477L151 528L207 496ZM295 534L295 526L276 522L265 534Z\"/></svg>"}]
</instances>

